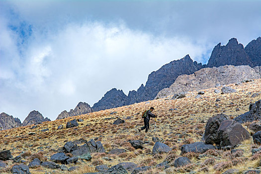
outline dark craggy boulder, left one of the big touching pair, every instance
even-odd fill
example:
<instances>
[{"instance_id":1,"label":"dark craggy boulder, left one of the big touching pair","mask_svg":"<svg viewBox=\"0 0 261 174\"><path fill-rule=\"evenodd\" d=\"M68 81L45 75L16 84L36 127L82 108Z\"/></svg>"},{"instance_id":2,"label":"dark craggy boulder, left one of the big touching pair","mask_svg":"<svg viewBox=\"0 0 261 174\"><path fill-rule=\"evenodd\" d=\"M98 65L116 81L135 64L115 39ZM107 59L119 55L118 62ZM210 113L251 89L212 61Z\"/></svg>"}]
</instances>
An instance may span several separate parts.
<instances>
[{"instance_id":1,"label":"dark craggy boulder, left one of the big touching pair","mask_svg":"<svg viewBox=\"0 0 261 174\"><path fill-rule=\"evenodd\" d=\"M204 138L206 144L219 144L220 139L218 136L218 128L222 121L228 120L228 116L226 114L217 114L216 116L213 116L208 119L206 127L205 127L205 133Z\"/></svg>"}]
</instances>

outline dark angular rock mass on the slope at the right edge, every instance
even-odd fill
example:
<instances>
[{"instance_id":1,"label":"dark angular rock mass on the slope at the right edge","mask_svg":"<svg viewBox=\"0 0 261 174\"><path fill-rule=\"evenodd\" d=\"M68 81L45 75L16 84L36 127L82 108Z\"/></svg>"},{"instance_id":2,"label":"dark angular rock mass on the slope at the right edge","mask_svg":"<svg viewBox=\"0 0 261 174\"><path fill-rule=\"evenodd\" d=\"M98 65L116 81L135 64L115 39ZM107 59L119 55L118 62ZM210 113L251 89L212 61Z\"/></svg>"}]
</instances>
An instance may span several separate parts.
<instances>
[{"instance_id":1,"label":"dark angular rock mass on the slope at the right edge","mask_svg":"<svg viewBox=\"0 0 261 174\"><path fill-rule=\"evenodd\" d=\"M251 103L249 105L249 111L237 116L234 120L239 123L261 120L261 100L258 100L255 103Z\"/></svg>"}]
</instances>

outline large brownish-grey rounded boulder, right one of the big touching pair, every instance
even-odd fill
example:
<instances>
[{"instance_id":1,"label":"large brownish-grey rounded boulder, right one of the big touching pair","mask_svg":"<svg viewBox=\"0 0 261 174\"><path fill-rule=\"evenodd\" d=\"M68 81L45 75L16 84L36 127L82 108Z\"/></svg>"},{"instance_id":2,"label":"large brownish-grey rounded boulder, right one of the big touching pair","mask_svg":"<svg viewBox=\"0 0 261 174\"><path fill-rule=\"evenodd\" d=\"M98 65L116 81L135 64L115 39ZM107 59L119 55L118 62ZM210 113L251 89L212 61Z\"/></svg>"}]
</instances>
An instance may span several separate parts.
<instances>
[{"instance_id":1,"label":"large brownish-grey rounded boulder, right one of the big touching pair","mask_svg":"<svg viewBox=\"0 0 261 174\"><path fill-rule=\"evenodd\" d=\"M250 133L235 120L225 120L218 128L220 146L232 148L250 138Z\"/></svg>"}]
</instances>

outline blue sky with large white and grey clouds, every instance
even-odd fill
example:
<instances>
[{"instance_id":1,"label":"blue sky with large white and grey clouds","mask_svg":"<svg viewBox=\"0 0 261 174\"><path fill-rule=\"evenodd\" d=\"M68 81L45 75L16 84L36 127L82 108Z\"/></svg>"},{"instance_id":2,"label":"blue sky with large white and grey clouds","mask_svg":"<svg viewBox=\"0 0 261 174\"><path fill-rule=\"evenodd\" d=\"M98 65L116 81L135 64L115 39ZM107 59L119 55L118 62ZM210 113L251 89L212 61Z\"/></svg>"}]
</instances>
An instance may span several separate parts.
<instances>
[{"instance_id":1,"label":"blue sky with large white and grey clouds","mask_svg":"<svg viewBox=\"0 0 261 174\"><path fill-rule=\"evenodd\" d=\"M261 36L258 0L0 0L0 113L55 120L111 88L137 90L189 54Z\"/></svg>"}]
</instances>

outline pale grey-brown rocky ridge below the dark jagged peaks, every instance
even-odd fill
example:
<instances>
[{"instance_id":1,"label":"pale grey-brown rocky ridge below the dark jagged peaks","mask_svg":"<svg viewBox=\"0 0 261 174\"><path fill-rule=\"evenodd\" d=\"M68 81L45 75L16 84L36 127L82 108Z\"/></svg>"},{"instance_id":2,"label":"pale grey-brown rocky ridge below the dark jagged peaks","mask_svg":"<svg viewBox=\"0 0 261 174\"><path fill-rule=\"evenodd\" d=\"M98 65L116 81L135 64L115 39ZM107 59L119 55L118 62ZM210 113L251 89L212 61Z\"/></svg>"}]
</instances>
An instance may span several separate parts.
<instances>
[{"instance_id":1,"label":"pale grey-brown rocky ridge below the dark jagged peaks","mask_svg":"<svg viewBox=\"0 0 261 174\"><path fill-rule=\"evenodd\" d=\"M201 90L215 87L216 84L227 85L247 79L260 79L259 67L232 66L203 68L191 75L181 75L170 87L162 89L155 98L163 98L182 91Z\"/></svg>"}]
</instances>

